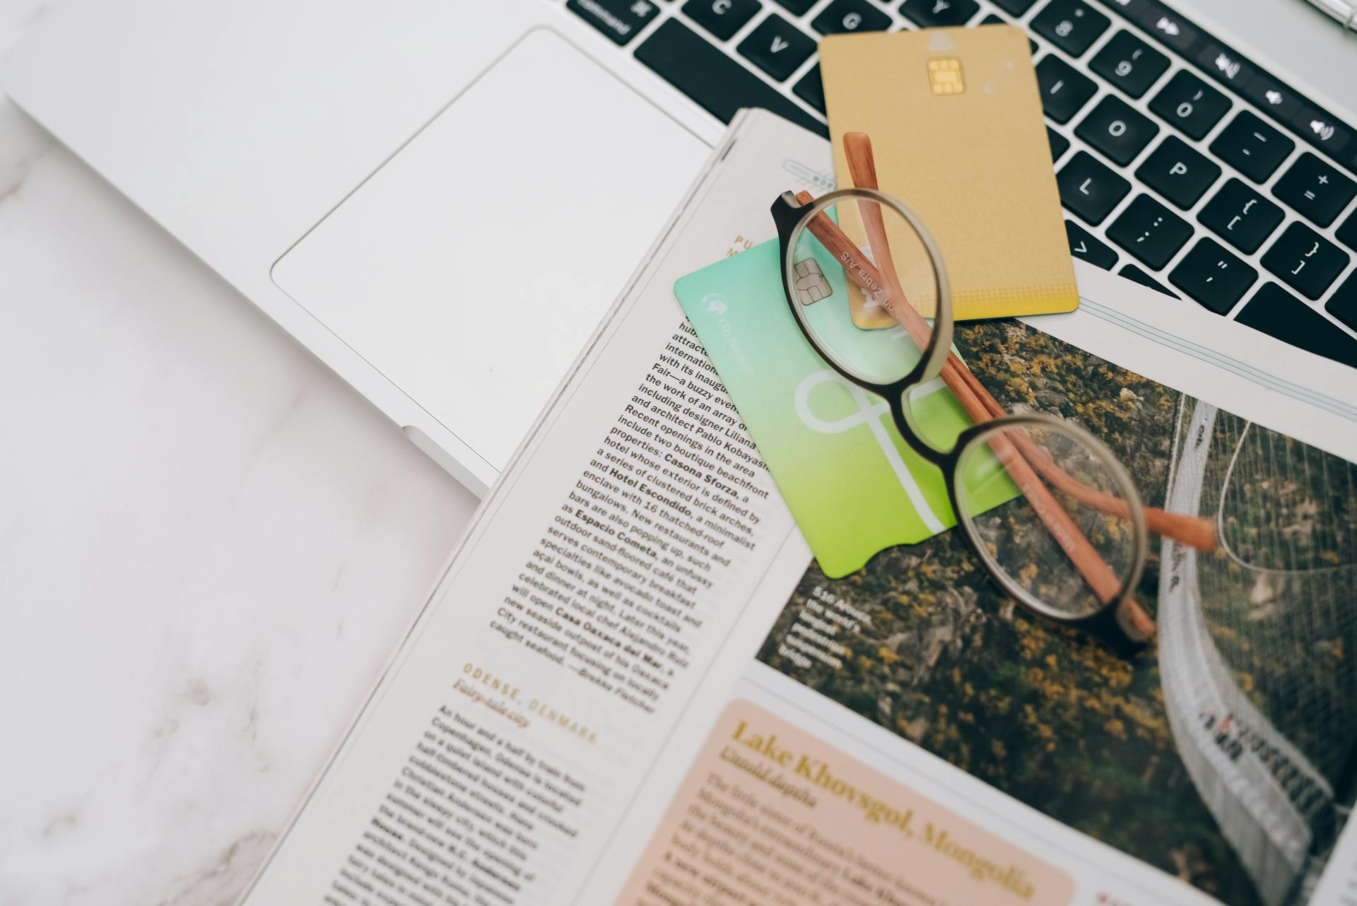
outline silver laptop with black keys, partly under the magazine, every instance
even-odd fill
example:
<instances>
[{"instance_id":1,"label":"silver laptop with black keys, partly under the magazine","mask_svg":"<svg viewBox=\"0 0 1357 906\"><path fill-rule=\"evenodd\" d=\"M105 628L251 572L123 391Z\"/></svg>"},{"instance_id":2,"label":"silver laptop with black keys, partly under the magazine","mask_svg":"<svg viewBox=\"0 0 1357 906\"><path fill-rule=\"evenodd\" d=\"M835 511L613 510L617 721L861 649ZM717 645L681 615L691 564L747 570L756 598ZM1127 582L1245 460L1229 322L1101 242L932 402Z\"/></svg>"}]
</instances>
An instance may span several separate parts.
<instances>
[{"instance_id":1,"label":"silver laptop with black keys, partly under the magazine","mask_svg":"<svg viewBox=\"0 0 1357 906\"><path fill-rule=\"evenodd\" d=\"M1357 368L1357 35L1300 0L71 0L0 77L483 492L735 110L826 134L821 35L995 22L1072 255Z\"/></svg>"}]
</instances>

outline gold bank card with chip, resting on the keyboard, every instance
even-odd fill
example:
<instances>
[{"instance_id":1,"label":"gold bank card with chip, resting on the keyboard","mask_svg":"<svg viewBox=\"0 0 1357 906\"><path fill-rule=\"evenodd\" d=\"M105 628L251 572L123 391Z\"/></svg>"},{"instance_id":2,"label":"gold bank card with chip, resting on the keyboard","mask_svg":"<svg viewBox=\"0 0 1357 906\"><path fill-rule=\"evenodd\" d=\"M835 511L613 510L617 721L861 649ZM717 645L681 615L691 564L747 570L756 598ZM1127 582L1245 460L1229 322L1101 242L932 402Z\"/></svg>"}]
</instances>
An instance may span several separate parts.
<instances>
[{"instance_id":1,"label":"gold bank card with chip, resting on the keyboard","mask_svg":"<svg viewBox=\"0 0 1357 906\"><path fill-rule=\"evenodd\" d=\"M1079 305L1022 30L832 35L820 43L820 66L839 186L854 184L844 133L867 133L881 190L911 208L942 250L955 317ZM852 313L859 327L896 324L860 293Z\"/></svg>"}]
</instances>

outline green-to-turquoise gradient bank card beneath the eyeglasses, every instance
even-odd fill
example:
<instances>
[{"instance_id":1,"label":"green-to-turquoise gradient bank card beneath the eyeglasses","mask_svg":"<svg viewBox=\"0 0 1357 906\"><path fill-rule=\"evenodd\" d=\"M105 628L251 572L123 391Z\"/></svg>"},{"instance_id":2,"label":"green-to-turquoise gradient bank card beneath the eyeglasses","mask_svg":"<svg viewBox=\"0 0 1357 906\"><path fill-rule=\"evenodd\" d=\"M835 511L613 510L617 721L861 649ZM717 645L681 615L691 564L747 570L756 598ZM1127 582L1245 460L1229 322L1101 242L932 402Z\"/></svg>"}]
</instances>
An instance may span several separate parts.
<instances>
[{"instance_id":1,"label":"green-to-turquoise gradient bank card beneath the eyeglasses","mask_svg":"<svg viewBox=\"0 0 1357 906\"><path fill-rule=\"evenodd\" d=\"M847 292L840 269L824 271L830 294ZM825 575L957 524L942 473L901 439L886 401L840 377L802 336L783 297L776 241L680 278L674 296ZM854 342L871 358L901 355L901 332L860 330ZM915 411L954 435L970 420L936 384ZM1014 492L977 503L989 509Z\"/></svg>"}]
</instances>

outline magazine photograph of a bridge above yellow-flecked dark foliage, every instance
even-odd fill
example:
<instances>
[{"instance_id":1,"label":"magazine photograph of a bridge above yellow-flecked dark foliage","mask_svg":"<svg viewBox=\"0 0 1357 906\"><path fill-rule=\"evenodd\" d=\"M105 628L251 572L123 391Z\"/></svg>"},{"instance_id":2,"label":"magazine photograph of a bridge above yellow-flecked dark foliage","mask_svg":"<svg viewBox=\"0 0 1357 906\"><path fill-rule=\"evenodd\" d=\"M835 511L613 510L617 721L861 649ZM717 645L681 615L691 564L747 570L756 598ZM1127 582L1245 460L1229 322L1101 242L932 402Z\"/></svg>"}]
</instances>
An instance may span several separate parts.
<instances>
[{"instance_id":1,"label":"magazine photograph of a bridge above yellow-flecked dark foliage","mask_svg":"<svg viewBox=\"0 0 1357 906\"><path fill-rule=\"evenodd\" d=\"M1158 646L1026 613L943 533L811 564L760 659L1221 902L1308 902L1357 793L1357 467L1018 321L957 347L1007 406L1103 439L1147 503L1217 522L1210 553L1152 549Z\"/></svg>"}]
</instances>

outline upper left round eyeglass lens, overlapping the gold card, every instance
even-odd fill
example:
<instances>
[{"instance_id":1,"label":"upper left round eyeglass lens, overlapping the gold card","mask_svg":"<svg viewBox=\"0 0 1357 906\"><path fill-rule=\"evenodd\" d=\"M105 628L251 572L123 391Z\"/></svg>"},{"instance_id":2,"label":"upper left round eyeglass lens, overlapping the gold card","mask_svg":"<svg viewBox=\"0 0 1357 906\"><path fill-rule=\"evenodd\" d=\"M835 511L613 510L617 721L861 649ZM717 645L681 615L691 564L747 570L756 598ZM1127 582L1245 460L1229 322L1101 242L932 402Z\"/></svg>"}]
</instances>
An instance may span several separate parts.
<instances>
[{"instance_id":1,"label":"upper left round eyeglass lens, overlapping the gold card","mask_svg":"<svg viewBox=\"0 0 1357 906\"><path fill-rule=\"evenodd\" d=\"M825 358L867 382L893 384L928 350L924 316L938 305L939 274L900 209L837 195L792 232L783 262L792 308Z\"/></svg>"}]
</instances>

